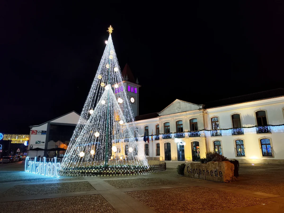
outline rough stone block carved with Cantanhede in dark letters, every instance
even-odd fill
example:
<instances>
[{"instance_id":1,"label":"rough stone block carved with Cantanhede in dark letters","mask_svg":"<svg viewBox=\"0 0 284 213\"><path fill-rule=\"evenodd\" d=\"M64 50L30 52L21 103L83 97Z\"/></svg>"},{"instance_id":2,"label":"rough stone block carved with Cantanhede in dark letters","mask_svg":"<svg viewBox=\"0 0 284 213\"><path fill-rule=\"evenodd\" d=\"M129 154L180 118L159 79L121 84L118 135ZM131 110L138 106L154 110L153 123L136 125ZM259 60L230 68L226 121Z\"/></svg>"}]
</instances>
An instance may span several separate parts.
<instances>
[{"instance_id":1,"label":"rough stone block carved with Cantanhede in dark letters","mask_svg":"<svg viewBox=\"0 0 284 213\"><path fill-rule=\"evenodd\" d=\"M235 180L234 164L229 161L185 164L184 176L203 180L229 182Z\"/></svg>"}]
</instances>

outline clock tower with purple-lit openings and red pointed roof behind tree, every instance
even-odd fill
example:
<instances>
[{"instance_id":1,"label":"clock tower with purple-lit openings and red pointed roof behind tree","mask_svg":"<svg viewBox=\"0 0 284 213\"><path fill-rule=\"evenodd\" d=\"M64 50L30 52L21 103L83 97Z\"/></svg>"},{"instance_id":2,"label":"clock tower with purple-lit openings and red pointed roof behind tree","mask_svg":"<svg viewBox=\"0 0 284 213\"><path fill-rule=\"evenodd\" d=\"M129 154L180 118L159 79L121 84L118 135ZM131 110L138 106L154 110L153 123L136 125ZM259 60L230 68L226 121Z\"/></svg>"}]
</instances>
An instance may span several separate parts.
<instances>
[{"instance_id":1,"label":"clock tower with purple-lit openings and red pointed roof behind tree","mask_svg":"<svg viewBox=\"0 0 284 213\"><path fill-rule=\"evenodd\" d=\"M138 79L135 78L128 66L125 64L122 70L122 77L124 87L126 88L126 92L128 95L128 100L130 102L134 117L139 115L139 87L141 87L138 83Z\"/></svg>"}]
</instances>

